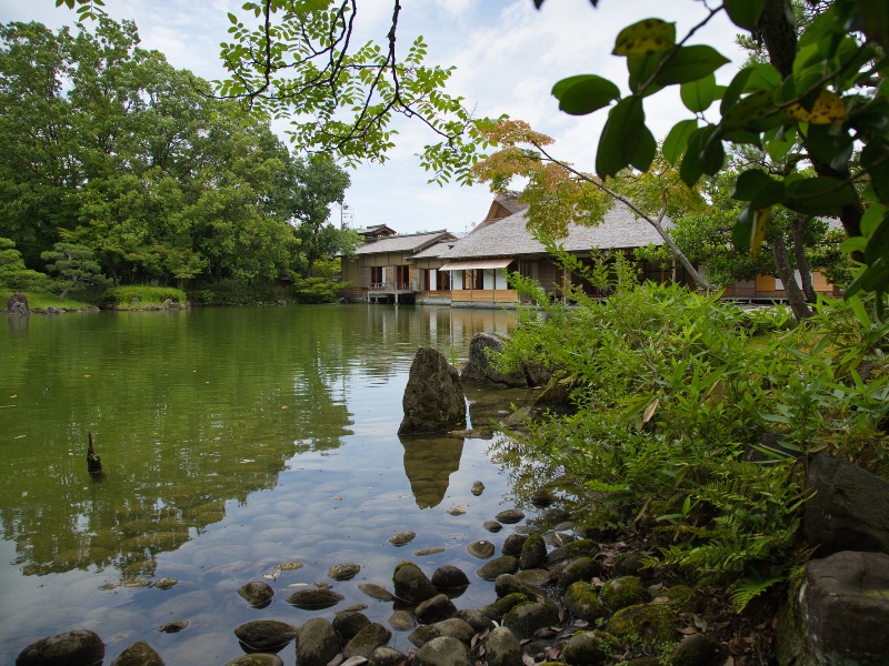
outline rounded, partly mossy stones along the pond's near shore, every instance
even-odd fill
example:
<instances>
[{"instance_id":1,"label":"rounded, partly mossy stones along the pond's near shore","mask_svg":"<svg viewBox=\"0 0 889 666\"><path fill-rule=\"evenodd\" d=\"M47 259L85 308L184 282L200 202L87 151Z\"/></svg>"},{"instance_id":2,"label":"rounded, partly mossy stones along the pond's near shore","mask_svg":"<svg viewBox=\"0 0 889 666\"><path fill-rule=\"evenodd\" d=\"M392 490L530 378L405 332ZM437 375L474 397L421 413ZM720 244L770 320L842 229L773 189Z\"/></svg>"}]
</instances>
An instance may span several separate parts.
<instances>
[{"instance_id":1,"label":"rounded, partly mossy stones along the pond's near shore","mask_svg":"<svg viewBox=\"0 0 889 666\"><path fill-rule=\"evenodd\" d=\"M555 497L536 497L539 506ZM705 595L670 583L657 569L643 569L646 552L627 542L602 543L600 531L575 524L562 508L546 508L533 521L508 509L486 527L500 531L513 526L499 554L490 542L469 544L467 549L486 559L469 575L444 565L430 575L413 562L399 564L391 587L374 583L359 586L369 597L392 604L389 626L371 622L357 603L336 610L332 619L317 616L297 627L288 623L259 619L232 630L244 655L227 666L280 665L278 653L296 642L300 666L328 666L370 662L397 666L413 662L423 666L489 666L560 660L571 665L658 664L669 647L671 664L705 666L722 664L730 653L726 640L711 637L705 619ZM410 539L394 535L393 539ZM394 543L394 542L393 542ZM407 542L406 542L407 543ZM300 563L280 565L298 568ZM358 574L360 564L342 563L328 572L332 581ZM453 599L471 585L471 579L495 582L495 598L477 609L457 609ZM169 588L173 579L154 586ZM274 591L262 581L244 583L238 589L244 603L268 606ZM286 602L302 609L319 612L343 602L329 583L296 592ZM352 599L354 601L354 599ZM180 632L188 620L160 627ZM409 632L416 647L408 654L389 647L392 632ZM291 648L292 649L292 648ZM26 647L17 666L53 664L102 664L104 645L93 632L76 630L44 638ZM186 659L187 655L182 655ZM721 660L719 660L721 659ZM160 666L164 664L147 643L130 645L111 666Z\"/></svg>"}]
</instances>

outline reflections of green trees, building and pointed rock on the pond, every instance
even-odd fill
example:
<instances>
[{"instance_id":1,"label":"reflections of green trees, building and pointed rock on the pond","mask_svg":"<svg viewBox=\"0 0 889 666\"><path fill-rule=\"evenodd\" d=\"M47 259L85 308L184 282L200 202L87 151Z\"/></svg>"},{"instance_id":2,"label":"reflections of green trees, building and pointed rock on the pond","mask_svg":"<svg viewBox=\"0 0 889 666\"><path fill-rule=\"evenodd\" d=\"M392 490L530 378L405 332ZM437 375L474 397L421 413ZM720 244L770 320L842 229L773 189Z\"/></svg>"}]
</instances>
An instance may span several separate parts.
<instances>
[{"instance_id":1,"label":"reflections of green trees, building and pointed rock on the pond","mask_svg":"<svg viewBox=\"0 0 889 666\"><path fill-rule=\"evenodd\" d=\"M342 446L357 414L367 424L380 404L400 408L418 346L465 356L473 333L506 332L512 317L321 306L8 321L0 527L14 564L26 576L96 568L133 581L228 503L272 491L294 455ZM88 431L101 481L87 472ZM402 444L417 505L437 506L462 441Z\"/></svg>"}]
</instances>

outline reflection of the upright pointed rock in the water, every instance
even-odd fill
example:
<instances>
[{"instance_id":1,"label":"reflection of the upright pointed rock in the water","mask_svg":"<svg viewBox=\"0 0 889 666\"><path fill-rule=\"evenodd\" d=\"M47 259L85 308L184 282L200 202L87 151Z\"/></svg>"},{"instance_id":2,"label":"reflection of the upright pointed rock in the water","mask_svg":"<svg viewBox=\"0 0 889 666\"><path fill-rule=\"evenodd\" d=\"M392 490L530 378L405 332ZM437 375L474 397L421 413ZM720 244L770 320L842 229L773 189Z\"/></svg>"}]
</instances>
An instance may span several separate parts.
<instances>
[{"instance_id":1,"label":"reflection of the upright pointed rock in the water","mask_svg":"<svg viewBox=\"0 0 889 666\"><path fill-rule=\"evenodd\" d=\"M420 508L438 506L448 492L452 472L460 468L463 441L443 437L403 437L404 474Z\"/></svg>"}]
</instances>

